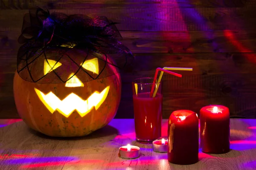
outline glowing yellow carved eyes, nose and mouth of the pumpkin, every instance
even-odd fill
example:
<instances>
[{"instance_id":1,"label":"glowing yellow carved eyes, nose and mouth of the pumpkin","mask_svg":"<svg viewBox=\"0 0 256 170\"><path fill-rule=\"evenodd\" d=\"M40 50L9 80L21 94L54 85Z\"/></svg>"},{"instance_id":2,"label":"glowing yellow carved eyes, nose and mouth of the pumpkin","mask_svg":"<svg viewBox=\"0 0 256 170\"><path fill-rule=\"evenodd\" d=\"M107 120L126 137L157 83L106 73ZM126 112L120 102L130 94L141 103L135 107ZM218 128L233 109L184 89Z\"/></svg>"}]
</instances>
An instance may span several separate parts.
<instances>
[{"instance_id":1,"label":"glowing yellow carved eyes, nose and mouth of the pumpkin","mask_svg":"<svg viewBox=\"0 0 256 170\"><path fill-rule=\"evenodd\" d=\"M55 60L45 59L44 61L44 75L49 72L57 69L62 64ZM98 59L89 59L84 63L81 63L81 66L88 70L92 71L94 74L99 74L99 64ZM74 88L74 87L84 87L84 84L80 81L74 73L70 74L69 79L65 83L65 87ZM95 91L91 94L88 99L83 100L81 97L77 96L74 93L69 94L63 100L59 99L55 94L49 92L48 94L44 94L37 88L35 88L35 92L38 95L41 102L47 107L47 109L53 113L55 110L59 111L65 117L70 116L74 110L76 110L81 117L85 116L90 110L94 107L96 110L102 105L105 101L110 86L107 86L103 91L98 92Z\"/></svg>"}]
</instances>

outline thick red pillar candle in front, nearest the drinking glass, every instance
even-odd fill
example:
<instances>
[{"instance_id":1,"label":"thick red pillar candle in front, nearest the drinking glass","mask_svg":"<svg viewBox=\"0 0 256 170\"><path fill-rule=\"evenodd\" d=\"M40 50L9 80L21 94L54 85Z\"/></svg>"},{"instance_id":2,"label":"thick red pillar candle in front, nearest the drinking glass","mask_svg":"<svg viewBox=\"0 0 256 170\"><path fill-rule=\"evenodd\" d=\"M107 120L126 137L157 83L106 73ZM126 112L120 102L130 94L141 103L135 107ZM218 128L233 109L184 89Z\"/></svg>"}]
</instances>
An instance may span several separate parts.
<instances>
[{"instance_id":1,"label":"thick red pillar candle in front, nearest the drinking glass","mask_svg":"<svg viewBox=\"0 0 256 170\"><path fill-rule=\"evenodd\" d=\"M195 112L172 112L168 123L168 161L174 164L198 162L198 135L198 116Z\"/></svg>"}]
</instances>

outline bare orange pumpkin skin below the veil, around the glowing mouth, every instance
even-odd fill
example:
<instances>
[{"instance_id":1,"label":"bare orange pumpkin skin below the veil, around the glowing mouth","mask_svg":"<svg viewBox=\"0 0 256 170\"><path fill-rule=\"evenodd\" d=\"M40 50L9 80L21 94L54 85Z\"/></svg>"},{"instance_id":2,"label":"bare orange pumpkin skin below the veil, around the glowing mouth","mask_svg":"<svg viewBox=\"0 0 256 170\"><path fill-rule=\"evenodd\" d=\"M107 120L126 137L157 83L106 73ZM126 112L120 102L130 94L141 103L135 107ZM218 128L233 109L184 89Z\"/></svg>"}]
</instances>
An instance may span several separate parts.
<instances>
[{"instance_id":1,"label":"bare orange pumpkin skin below the veil, around the glowing mouth","mask_svg":"<svg viewBox=\"0 0 256 170\"><path fill-rule=\"evenodd\" d=\"M29 74L28 74L29 76ZM107 125L116 115L121 96L120 74L103 79L83 82L84 87L65 87L65 83L39 84L22 79L17 71L14 77L14 98L17 111L23 121L32 129L48 136L72 137L85 136ZM48 94L52 92L63 100L71 93L86 100L95 91L101 92L110 86L105 101L96 110L94 107L81 117L74 110L69 117L57 110L51 113L35 92L35 88Z\"/></svg>"}]
</instances>

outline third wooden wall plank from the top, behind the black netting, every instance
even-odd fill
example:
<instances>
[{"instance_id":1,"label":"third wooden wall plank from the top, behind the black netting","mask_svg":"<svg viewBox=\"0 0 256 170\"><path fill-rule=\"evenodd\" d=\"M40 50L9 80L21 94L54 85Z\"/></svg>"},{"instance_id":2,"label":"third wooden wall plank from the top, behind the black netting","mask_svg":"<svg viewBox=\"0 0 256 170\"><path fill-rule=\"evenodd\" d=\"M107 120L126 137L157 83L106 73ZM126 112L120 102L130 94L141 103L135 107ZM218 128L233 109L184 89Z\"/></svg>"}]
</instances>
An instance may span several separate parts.
<instances>
[{"instance_id":1,"label":"third wooden wall plank from the top, behind the black netting","mask_svg":"<svg viewBox=\"0 0 256 170\"><path fill-rule=\"evenodd\" d=\"M122 43L134 54L256 52L254 30L228 33L232 40L224 31L120 31ZM1 58L16 58L19 36L20 31L0 31Z\"/></svg>"}]
</instances>

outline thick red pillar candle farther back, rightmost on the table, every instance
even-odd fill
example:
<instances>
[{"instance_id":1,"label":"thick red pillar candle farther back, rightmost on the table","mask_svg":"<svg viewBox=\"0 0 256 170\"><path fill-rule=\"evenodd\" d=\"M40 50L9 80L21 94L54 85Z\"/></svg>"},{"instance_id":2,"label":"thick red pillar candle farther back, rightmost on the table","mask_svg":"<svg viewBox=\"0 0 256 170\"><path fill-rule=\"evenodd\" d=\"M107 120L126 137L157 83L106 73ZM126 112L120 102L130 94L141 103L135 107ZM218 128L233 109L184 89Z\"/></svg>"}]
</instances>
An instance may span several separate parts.
<instances>
[{"instance_id":1,"label":"thick red pillar candle farther back, rightmost on the table","mask_svg":"<svg viewBox=\"0 0 256 170\"><path fill-rule=\"evenodd\" d=\"M230 113L227 107L210 105L201 108L200 138L205 153L227 153L230 150Z\"/></svg>"}]
</instances>

